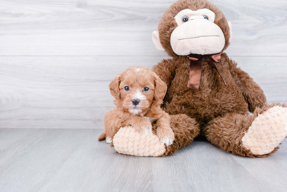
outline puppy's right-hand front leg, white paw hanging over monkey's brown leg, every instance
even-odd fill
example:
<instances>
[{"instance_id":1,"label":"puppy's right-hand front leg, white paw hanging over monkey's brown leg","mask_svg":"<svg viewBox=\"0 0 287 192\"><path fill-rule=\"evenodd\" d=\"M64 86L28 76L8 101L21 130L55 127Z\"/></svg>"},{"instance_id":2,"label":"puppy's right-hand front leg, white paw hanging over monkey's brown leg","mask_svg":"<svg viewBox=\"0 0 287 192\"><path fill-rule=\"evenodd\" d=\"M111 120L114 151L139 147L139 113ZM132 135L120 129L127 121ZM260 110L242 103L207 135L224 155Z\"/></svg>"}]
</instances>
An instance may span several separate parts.
<instances>
[{"instance_id":1,"label":"puppy's right-hand front leg, white paw hanging over monkey's brown leg","mask_svg":"<svg viewBox=\"0 0 287 192\"><path fill-rule=\"evenodd\" d=\"M166 145L171 145L174 140L174 133L170 128L170 116L163 111L163 115L156 121L156 135Z\"/></svg>"}]
</instances>

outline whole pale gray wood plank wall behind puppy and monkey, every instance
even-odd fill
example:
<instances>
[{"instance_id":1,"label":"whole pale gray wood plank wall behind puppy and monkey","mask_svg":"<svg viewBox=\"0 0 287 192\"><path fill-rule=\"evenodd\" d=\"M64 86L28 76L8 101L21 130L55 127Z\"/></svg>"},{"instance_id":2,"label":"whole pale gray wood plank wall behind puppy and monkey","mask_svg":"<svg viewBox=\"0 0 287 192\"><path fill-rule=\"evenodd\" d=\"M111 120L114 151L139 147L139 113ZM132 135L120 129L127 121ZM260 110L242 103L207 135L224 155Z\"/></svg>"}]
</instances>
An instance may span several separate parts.
<instances>
[{"instance_id":1,"label":"whole pale gray wood plank wall behind puppy and monkey","mask_svg":"<svg viewBox=\"0 0 287 192\"><path fill-rule=\"evenodd\" d=\"M103 128L108 84L164 58L151 34L174 0L0 0L0 128ZM226 53L287 102L287 1L211 0L233 24Z\"/></svg>"}]
</instances>

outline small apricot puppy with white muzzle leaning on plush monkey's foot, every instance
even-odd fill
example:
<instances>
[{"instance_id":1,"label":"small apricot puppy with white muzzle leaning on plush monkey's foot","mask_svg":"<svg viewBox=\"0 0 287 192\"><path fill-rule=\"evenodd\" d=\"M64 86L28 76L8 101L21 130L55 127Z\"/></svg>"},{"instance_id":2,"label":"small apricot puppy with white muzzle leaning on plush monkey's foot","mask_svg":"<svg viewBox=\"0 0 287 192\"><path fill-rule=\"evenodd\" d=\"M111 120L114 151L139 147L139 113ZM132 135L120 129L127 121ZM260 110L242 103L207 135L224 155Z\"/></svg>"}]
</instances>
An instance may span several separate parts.
<instances>
[{"instance_id":1,"label":"small apricot puppy with white muzzle leaning on plush monkey's foot","mask_svg":"<svg viewBox=\"0 0 287 192\"><path fill-rule=\"evenodd\" d=\"M167 86L156 73L146 67L131 67L118 74L109 87L117 107L105 115L105 133L98 140L110 143L115 128L126 125L141 133L151 133L152 124L156 123L158 138L166 145L172 144L170 116L160 108Z\"/></svg>"}]
</instances>

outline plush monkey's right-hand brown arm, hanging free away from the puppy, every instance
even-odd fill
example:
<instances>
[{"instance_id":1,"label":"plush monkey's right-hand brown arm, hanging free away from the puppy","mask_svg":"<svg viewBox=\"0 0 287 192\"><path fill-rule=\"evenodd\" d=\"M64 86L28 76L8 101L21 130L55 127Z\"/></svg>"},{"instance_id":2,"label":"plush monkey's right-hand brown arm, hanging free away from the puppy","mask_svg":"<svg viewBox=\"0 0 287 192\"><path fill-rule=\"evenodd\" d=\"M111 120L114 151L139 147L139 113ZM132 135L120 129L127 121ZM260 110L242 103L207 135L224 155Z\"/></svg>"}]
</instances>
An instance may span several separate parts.
<instances>
[{"instance_id":1,"label":"plush monkey's right-hand brown arm, hanging free away from the puppy","mask_svg":"<svg viewBox=\"0 0 287 192\"><path fill-rule=\"evenodd\" d=\"M229 60L229 59L228 59ZM248 103L249 111L254 112L256 107L263 107L266 97L260 86L253 81L248 73L237 67L237 63L229 60L230 72L235 78L235 83L240 87L245 100Z\"/></svg>"}]
</instances>

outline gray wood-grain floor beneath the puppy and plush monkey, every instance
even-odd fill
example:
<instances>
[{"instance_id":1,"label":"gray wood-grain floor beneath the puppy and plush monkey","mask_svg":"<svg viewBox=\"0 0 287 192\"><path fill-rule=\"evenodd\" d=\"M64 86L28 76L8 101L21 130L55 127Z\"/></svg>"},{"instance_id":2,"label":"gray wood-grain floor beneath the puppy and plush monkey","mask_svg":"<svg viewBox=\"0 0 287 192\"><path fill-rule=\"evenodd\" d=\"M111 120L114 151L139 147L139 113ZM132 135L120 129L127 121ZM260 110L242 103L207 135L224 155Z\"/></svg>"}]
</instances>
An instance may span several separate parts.
<instances>
[{"instance_id":1,"label":"gray wood-grain floor beneath the puppy and plush monkey","mask_svg":"<svg viewBox=\"0 0 287 192\"><path fill-rule=\"evenodd\" d=\"M204 141L168 157L135 157L99 142L102 131L0 129L0 138L14 138L0 145L0 191L286 191L286 141L266 158Z\"/></svg>"}]
</instances>

